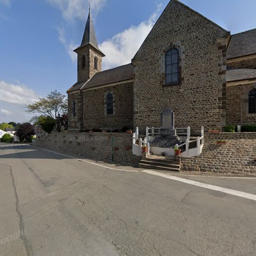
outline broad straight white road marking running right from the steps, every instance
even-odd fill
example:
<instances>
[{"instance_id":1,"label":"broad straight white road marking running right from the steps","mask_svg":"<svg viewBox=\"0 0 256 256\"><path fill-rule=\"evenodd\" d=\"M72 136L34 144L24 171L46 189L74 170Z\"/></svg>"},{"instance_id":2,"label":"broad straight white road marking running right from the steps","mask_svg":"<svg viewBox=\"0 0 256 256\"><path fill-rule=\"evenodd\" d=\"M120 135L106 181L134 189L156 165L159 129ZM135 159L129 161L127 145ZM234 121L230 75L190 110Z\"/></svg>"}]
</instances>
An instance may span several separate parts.
<instances>
[{"instance_id":1,"label":"broad straight white road marking running right from the steps","mask_svg":"<svg viewBox=\"0 0 256 256\"><path fill-rule=\"evenodd\" d=\"M242 197L242 198L246 198L246 199L256 201L256 195L245 193L245 192L242 192L242 191L233 190L233 189L229 189L229 188L225 188L225 187L219 187L219 186L215 186L215 185L209 185L209 184L205 184L205 183L194 181L194 180L187 180L187 179L179 178L179 177L172 176L172 175L167 175L167 174L154 172L153 170L143 170L142 172L147 173L147 174L160 176L162 178L166 178L166 179L170 179L170 180L183 182L183 183L186 183L186 184L189 184L189 185L194 185L194 186L203 187L203 188L207 188L207 189L211 189L211 190L215 190L215 191L220 191L222 193L233 195L233 196L236 196L236 197Z\"/></svg>"}]
</instances>

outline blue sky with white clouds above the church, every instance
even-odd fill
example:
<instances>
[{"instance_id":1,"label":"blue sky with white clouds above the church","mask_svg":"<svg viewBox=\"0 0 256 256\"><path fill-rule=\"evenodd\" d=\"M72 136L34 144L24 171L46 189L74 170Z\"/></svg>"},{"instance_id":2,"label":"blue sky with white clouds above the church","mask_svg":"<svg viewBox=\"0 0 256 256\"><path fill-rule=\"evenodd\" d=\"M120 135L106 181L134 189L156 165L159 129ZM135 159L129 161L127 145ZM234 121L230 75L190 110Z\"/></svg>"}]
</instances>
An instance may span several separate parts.
<instances>
[{"instance_id":1,"label":"blue sky with white clouds above the church","mask_svg":"<svg viewBox=\"0 0 256 256\"><path fill-rule=\"evenodd\" d=\"M90 0L103 70L124 65L168 0ZM181 0L231 34L256 28L255 0ZM88 0L0 0L0 123L29 121L25 106L77 81Z\"/></svg>"}]
</instances>

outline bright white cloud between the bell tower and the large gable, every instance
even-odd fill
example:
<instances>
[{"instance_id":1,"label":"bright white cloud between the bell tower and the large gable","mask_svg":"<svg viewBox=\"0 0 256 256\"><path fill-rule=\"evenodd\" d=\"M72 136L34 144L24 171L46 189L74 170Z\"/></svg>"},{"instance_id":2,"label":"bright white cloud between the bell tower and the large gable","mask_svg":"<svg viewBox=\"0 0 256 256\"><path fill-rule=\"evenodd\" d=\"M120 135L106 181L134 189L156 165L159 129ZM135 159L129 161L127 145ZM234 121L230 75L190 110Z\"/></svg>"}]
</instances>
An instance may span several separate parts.
<instances>
[{"instance_id":1,"label":"bright white cloud between the bell tower and the large gable","mask_svg":"<svg viewBox=\"0 0 256 256\"><path fill-rule=\"evenodd\" d=\"M102 63L103 69L110 69L131 62L131 59L153 28L161 7L162 5L158 5L156 12L148 20L138 26L125 29L99 45L99 49L106 55Z\"/></svg>"}]
</instances>

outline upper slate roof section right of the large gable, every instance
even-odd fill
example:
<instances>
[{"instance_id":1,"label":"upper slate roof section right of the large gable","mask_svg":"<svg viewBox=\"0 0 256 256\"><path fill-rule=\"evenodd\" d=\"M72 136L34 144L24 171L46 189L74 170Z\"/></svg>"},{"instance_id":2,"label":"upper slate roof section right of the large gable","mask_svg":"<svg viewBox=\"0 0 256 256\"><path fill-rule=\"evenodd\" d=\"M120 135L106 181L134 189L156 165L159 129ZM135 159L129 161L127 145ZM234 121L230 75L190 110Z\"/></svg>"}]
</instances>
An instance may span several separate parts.
<instances>
[{"instance_id":1,"label":"upper slate roof section right of the large gable","mask_svg":"<svg viewBox=\"0 0 256 256\"><path fill-rule=\"evenodd\" d=\"M231 36L227 59L256 54L256 29Z\"/></svg>"}]
</instances>

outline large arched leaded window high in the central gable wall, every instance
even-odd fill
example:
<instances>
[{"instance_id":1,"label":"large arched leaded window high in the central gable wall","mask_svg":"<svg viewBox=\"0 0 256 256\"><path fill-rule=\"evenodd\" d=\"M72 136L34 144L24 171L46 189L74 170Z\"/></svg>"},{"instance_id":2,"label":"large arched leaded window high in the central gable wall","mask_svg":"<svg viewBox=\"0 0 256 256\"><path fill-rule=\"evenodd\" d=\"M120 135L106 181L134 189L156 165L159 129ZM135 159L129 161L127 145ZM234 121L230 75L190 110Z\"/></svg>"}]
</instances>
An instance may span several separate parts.
<instances>
[{"instance_id":1,"label":"large arched leaded window high in the central gable wall","mask_svg":"<svg viewBox=\"0 0 256 256\"><path fill-rule=\"evenodd\" d=\"M179 51L177 48L172 48L165 54L165 83L180 83Z\"/></svg>"}]
</instances>

